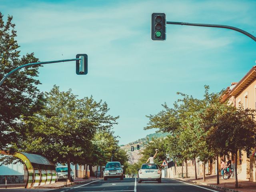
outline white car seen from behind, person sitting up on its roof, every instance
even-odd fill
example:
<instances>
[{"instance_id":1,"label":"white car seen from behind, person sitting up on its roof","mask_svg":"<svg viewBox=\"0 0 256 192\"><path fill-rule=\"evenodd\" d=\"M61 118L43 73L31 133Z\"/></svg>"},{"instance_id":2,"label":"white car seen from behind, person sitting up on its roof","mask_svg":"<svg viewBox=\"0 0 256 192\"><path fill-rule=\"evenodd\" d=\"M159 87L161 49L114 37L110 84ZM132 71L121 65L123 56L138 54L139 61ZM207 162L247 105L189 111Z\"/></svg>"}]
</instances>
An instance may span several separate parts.
<instances>
[{"instance_id":1,"label":"white car seen from behind, person sitting up on its roof","mask_svg":"<svg viewBox=\"0 0 256 192\"><path fill-rule=\"evenodd\" d=\"M153 180L158 181L158 183L161 183L161 170L158 168L157 164L154 163L146 163L142 164L141 168L138 169L139 177L138 177L138 183L141 183L144 180Z\"/></svg>"}]
</instances>

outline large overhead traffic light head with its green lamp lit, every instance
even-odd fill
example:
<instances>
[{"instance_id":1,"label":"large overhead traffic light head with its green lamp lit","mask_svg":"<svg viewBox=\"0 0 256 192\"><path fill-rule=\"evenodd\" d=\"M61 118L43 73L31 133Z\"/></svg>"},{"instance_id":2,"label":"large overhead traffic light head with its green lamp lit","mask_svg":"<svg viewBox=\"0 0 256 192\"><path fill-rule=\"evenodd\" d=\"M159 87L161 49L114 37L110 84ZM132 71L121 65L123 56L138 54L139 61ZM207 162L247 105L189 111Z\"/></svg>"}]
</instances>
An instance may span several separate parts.
<instances>
[{"instance_id":1,"label":"large overhead traffic light head with its green lamp lit","mask_svg":"<svg viewBox=\"0 0 256 192\"><path fill-rule=\"evenodd\" d=\"M164 13L152 13L151 39L160 41L166 40L166 18Z\"/></svg>"}]
</instances>

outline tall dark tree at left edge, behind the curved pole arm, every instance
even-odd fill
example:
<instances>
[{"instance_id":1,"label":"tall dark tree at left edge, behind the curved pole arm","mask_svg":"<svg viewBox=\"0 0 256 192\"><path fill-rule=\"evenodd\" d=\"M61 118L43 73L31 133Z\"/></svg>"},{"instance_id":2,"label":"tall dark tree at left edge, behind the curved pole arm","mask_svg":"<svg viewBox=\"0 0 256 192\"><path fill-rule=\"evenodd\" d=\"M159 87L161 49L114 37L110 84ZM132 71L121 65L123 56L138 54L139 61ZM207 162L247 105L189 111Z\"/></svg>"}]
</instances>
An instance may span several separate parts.
<instances>
[{"instance_id":1,"label":"tall dark tree at left edge, behind the curved pole arm","mask_svg":"<svg viewBox=\"0 0 256 192\"><path fill-rule=\"evenodd\" d=\"M34 53L20 57L17 34L12 23L12 16L8 16L4 23L4 16L0 12L0 80L8 72L23 64L38 62ZM43 98L37 89L39 80L38 66L24 68L15 72L0 86L0 149L14 152L22 139L21 116L30 116L41 109Z\"/></svg>"}]
</instances>

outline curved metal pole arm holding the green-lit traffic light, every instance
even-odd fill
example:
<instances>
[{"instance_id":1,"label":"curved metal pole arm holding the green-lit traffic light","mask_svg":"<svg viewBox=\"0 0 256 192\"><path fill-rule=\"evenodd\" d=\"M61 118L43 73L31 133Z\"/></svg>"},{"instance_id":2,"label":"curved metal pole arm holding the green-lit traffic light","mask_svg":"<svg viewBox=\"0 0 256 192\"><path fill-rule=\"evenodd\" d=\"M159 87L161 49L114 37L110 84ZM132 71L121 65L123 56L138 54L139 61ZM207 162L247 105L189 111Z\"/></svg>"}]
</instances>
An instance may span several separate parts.
<instances>
[{"instance_id":1,"label":"curved metal pole arm holding the green-lit traffic light","mask_svg":"<svg viewBox=\"0 0 256 192\"><path fill-rule=\"evenodd\" d=\"M216 27L216 28L226 28L226 29L231 29L231 30L235 30L238 31L242 34L245 34L246 36L250 37L251 39L253 39L256 42L256 37L254 37L252 34L233 27L233 26L228 26L228 25L216 25L216 24L202 24L202 23L184 23L184 22L172 22L172 21L167 21L166 24L172 24L172 25L190 25L190 26L200 26L200 27Z\"/></svg>"}]
</instances>

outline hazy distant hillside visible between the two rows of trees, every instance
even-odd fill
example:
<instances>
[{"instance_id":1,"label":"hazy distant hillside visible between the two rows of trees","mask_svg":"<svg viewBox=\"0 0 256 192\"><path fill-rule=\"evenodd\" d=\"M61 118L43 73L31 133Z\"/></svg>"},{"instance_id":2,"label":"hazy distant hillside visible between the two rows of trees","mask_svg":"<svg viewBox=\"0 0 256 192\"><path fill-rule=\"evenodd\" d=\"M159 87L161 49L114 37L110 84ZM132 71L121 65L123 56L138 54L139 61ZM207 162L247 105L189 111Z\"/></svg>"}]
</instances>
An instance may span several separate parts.
<instances>
[{"instance_id":1,"label":"hazy distant hillside visible between the two rows of trees","mask_svg":"<svg viewBox=\"0 0 256 192\"><path fill-rule=\"evenodd\" d=\"M158 137L166 137L166 136L168 136L168 133L152 133L152 134L148 134L144 138L140 138L140 139L130 142L126 145L121 145L120 147L127 151L127 154L129 155L130 164L134 164L134 163L138 162L138 160L140 158L139 153L141 150L143 150L144 145L147 143L148 140L151 141L153 137L158 138ZM140 145L139 150L137 150L137 145ZM134 146L134 151L131 151L131 146Z\"/></svg>"}]
</instances>

